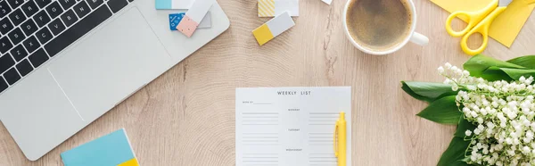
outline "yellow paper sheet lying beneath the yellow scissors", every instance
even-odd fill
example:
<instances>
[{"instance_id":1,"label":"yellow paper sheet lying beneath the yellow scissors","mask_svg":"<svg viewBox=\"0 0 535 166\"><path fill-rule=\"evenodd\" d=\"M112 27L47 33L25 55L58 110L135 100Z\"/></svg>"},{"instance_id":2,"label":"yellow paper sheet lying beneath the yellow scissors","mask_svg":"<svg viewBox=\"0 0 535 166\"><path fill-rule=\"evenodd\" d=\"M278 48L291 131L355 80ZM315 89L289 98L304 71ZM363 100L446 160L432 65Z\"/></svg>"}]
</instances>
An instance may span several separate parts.
<instances>
[{"instance_id":1,"label":"yellow paper sheet lying beneath the yellow scissors","mask_svg":"<svg viewBox=\"0 0 535 166\"><path fill-rule=\"evenodd\" d=\"M448 12L477 11L490 4L491 0L431 0ZM513 45L514 38L518 36L523 24L528 20L535 4L527 4L526 1L514 0L507 6L506 11L498 15L492 21L489 36L496 39L504 46ZM466 18L460 17L466 21ZM444 19L446 21L446 19Z\"/></svg>"}]
</instances>

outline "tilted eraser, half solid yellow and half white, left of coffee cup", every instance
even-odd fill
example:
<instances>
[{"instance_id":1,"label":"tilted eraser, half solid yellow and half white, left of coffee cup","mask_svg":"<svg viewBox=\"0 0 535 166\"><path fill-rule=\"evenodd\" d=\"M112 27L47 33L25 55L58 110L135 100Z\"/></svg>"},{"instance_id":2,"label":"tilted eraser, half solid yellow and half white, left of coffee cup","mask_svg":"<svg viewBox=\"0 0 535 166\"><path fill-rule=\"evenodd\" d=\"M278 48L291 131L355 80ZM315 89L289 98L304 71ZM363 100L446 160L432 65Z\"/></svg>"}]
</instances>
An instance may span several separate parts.
<instances>
[{"instance_id":1,"label":"tilted eraser, half solid yellow and half white, left of coffee cup","mask_svg":"<svg viewBox=\"0 0 535 166\"><path fill-rule=\"evenodd\" d=\"M259 28L252 30L252 35L254 35L254 37L257 39L259 45L262 46L287 29L292 28L294 25L295 22L293 22L290 14L288 12L283 12L282 14L262 24Z\"/></svg>"}]
</instances>

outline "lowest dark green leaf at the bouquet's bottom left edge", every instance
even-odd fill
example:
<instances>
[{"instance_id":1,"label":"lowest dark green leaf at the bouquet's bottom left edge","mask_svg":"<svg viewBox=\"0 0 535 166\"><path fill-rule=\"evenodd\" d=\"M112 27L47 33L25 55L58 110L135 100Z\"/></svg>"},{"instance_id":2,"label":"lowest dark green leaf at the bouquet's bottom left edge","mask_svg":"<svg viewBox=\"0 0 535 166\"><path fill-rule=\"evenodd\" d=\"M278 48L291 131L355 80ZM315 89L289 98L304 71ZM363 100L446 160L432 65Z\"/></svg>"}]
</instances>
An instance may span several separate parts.
<instances>
[{"instance_id":1,"label":"lowest dark green leaf at the bouquet's bottom left edge","mask_svg":"<svg viewBox=\"0 0 535 166\"><path fill-rule=\"evenodd\" d=\"M453 137L449 143L448 149L440 156L438 166L461 166L468 165L463 162L465 158L465 151L470 145L470 142L465 141L461 137Z\"/></svg>"}]
</instances>

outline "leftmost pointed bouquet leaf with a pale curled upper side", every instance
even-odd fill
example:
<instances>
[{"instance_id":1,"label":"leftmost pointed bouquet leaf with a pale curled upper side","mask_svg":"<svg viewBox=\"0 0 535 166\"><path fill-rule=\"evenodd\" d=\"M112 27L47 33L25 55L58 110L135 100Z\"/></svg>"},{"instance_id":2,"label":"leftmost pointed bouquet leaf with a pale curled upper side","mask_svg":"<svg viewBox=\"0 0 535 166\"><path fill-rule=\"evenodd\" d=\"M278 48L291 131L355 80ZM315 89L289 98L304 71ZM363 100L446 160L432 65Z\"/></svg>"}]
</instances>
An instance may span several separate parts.
<instances>
[{"instance_id":1,"label":"leftmost pointed bouquet leaf with a pale curled upper side","mask_svg":"<svg viewBox=\"0 0 535 166\"><path fill-rule=\"evenodd\" d=\"M429 103L435 101L440 95L457 95L457 91L451 90L450 85L443 83L401 81L401 85L401 89L408 95Z\"/></svg>"}]
</instances>

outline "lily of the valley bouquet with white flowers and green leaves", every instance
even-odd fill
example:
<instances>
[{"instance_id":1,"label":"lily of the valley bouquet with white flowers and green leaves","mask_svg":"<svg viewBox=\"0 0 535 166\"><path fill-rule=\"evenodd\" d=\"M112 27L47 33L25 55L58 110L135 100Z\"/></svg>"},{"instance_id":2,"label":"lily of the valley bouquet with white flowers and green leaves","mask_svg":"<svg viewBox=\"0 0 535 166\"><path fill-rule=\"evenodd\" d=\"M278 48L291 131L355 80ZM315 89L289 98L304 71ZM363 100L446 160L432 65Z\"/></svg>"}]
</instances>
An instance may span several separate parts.
<instances>
[{"instance_id":1,"label":"lily of the valley bouquet with white flowers and green leaves","mask_svg":"<svg viewBox=\"0 0 535 166\"><path fill-rule=\"evenodd\" d=\"M503 62L478 54L463 68L440 66L443 83L401 81L429 103L417 116L457 125L438 165L535 165L535 55Z\"/></svg>"}]
</instances>

